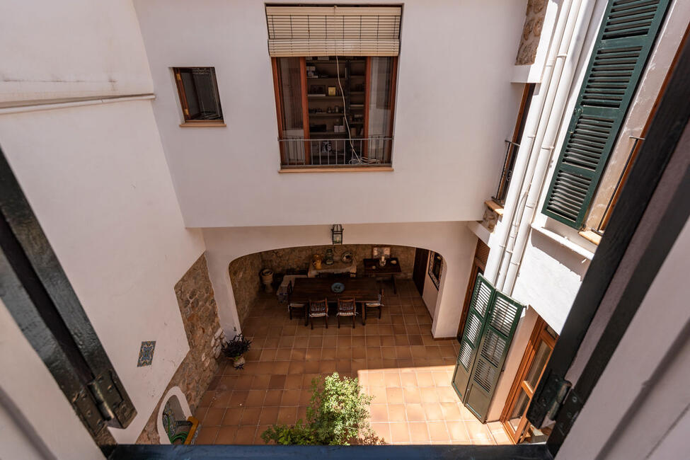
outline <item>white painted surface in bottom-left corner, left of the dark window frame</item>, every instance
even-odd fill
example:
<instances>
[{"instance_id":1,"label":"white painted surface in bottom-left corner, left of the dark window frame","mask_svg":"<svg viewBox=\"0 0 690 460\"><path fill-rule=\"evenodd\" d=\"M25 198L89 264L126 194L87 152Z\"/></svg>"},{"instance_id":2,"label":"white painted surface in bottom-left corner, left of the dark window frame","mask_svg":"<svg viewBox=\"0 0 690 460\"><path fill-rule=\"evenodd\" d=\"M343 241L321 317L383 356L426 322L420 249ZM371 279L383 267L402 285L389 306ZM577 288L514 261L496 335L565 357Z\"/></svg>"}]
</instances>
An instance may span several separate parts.
<instances>
[{"instance_id":1,"label":"white painted surface in bottom-left corner, left of the dark window frame","mask_svg":"<svg viewBox=\"0 0 690 460\"><path fill-rule=\"evenodd\" d=\"M45 459L48 453L57 459L103 459L1 300L0 369L0 392L13 406L8 408L0 399L1 458ZM21 418L28 420L28 426Z\"/></svg>"}]
</instances>

